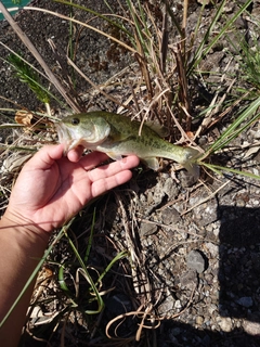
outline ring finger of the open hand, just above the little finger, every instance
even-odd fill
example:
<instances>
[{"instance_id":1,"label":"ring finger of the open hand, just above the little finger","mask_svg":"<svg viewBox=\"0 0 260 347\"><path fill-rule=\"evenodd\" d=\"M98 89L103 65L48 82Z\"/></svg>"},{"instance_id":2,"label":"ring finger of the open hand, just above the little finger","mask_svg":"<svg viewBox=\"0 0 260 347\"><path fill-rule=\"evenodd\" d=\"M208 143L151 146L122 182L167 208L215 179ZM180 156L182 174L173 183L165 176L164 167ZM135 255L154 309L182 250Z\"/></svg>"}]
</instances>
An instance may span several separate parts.
<instances>
[{"instance_id":1,"label":"ring finger of the open hand, just above the little finger","mask_svg":"<svg viewBox=\"0 0 260 347\"><path fill-rule=\"evenodd\" d=\"M113 177L120 171L131 169L139 165L139 158L135 155L129 155L120 160L113 162L108 165L103 165L89 171L89 179L94 182L101 179Z\"/></svg>"}]
</instances>

